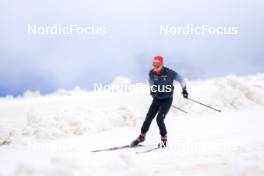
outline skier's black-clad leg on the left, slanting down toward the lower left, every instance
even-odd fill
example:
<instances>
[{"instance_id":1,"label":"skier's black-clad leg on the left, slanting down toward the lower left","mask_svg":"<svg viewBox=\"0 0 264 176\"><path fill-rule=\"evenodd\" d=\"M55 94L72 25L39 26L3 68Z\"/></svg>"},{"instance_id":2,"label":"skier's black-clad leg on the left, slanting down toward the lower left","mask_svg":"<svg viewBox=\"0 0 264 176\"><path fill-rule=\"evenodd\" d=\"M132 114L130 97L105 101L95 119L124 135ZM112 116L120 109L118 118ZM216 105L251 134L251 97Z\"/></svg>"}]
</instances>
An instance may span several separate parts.
<instances>
[{"instance_id":1,"label":"skier's black-clad leg on the left, slanting down toward the lower left","mask_svg":"<svg viewBox=\"0 0 264 176\"><path fill-rule=\"evenodd\" d=\"M142 134L146 134L148 132L150 124L151 124L152 120L154 119L154 117L156 116L159 108L160 108L159 100L153 99L153 101L149 107L145 121L141 127L141 133Z\"/></svg>"}]
</instances>

